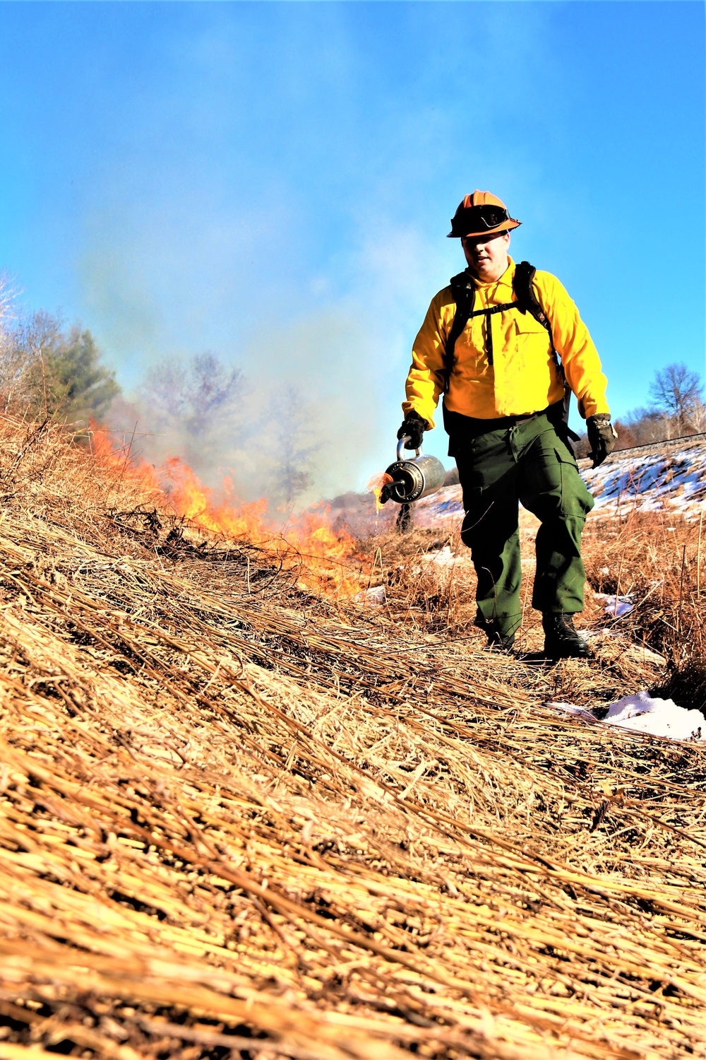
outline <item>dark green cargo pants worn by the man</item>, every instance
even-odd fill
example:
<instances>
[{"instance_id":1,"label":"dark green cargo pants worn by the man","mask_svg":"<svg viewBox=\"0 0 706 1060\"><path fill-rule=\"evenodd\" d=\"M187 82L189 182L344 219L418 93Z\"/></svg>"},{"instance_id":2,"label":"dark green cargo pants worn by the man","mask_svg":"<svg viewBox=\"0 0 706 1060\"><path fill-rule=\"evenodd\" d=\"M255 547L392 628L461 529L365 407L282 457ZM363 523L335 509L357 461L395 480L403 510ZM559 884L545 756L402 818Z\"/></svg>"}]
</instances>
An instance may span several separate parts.
<instances>
[{"instance_id":1,"label":"dark green cargo pants worn by the man","mask_svg":"<svg viewBox=\"0 0 706 1060\"><path fill-rule=\"evenodd\" d=\"M478 579L476 624L492 624L503 636L520 625L518 502L542 524L535 543L532 607L564 615L582 611L581 531L594 499L547 417L456 440L453 455L464 491L461 538Z\"/></svg>"}]
</instances>

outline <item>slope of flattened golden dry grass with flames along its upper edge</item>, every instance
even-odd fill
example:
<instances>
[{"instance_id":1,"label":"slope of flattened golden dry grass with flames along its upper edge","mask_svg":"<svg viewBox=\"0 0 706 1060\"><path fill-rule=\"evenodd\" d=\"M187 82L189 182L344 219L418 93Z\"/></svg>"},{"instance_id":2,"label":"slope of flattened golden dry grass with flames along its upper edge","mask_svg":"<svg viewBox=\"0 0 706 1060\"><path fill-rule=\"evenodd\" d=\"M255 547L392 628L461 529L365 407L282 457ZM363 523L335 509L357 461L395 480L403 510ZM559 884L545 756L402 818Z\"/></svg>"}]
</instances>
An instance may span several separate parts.
<instances>
[{"instance_id":1,"label":"slope of flattened golden dry grass with flames along its upper edge","mask_svg":"<svg viewBox=\"0 0 706 1060\"><path fill-rule=\"evenodd\" d=\"M0 1060L706 1056L703 744L547 705L699 705L698 520L595 520L635 606L549 666L481 650L436 529L0 435Z\"/></svg>"}]
</instances>

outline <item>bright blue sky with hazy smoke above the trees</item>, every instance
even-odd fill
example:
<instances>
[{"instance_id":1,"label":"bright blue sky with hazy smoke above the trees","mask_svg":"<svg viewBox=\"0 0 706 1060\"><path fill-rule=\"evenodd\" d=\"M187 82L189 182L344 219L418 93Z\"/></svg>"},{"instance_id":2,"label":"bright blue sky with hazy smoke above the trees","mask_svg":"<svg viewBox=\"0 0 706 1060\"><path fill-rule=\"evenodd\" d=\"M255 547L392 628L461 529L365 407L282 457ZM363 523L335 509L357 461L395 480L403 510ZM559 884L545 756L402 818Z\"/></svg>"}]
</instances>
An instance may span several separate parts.
<instances>
[{"instance_id":1,"label":"bright blue sky with hazy smoke above the trees","mask_svg":"<svg viewBox=\"0 0 706 1060\"><path fill-rule=\"evenodd\" d=\"M0 264L128 390L203 350L254 402L293 382L345 489L392 456L411 342L464 264L449 218L490 189L624 413L660 366L704 373L704 12L2 3Z\"/></svg>"}]
</instances>

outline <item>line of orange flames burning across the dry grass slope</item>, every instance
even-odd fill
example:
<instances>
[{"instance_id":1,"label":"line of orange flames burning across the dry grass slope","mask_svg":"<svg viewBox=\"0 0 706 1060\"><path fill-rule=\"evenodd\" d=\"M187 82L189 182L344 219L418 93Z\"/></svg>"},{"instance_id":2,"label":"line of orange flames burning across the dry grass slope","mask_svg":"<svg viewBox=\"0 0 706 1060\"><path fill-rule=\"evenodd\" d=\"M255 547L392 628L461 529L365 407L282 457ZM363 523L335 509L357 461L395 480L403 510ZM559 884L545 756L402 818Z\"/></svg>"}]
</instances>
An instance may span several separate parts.
<instances>
[{"instance_id":1,"label":"line of orange flames burning across the dry grass slope","mask_svg":"<svg viewBox=\"0 0 706 1060\"><path fill-rule=\"evenodd\" d=\"M223 500L217 501L209 487L179 457L171 457L156 469L120 449L108 430L91 424L91 447L105 466L117 470L148 491L157 491L192 526L228 540L246 541L277 561L283 569L297 575L297 586L323 591L339 598L355 597L367 561L356 548L346 530L334 530L328 519L329 509L305 512L294 518L286 531L268 525L268 502L240 504L233 481L222 482Z\"/></svg>"}]
</instances>

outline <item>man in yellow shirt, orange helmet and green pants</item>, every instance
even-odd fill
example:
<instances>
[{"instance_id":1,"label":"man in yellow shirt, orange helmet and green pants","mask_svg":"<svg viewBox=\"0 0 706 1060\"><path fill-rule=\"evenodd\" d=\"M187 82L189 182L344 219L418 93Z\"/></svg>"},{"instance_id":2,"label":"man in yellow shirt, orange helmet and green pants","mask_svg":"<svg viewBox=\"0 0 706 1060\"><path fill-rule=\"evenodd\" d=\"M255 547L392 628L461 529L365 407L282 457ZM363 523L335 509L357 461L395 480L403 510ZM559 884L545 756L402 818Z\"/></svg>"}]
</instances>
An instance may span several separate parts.
<instances>
[{"instance_id":1,"label":"man in yellow shirt, orange helmet and green pants","mask_svg":"<svg viewBox=\"0 0 706 1060\"><path fill-rule=\"evenodd\" d=\"M466 512L461 540L477 575L476 625L489 646L510 651L521 622L521 502L542 524L532 607L542 613L545 654L585 657L572 616L583 610L581 531L594 501L568 445L566 388L586 420L594 467L616 435L607 379L576 305L556 277L508 257L520 224L490 192L458 206L449 237L460 238L468 267L432 299L397 437L419 447L443 393Z\"/></svg>"}]
</instances>

